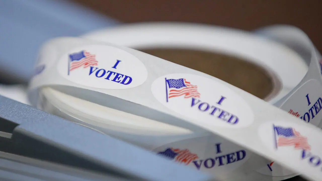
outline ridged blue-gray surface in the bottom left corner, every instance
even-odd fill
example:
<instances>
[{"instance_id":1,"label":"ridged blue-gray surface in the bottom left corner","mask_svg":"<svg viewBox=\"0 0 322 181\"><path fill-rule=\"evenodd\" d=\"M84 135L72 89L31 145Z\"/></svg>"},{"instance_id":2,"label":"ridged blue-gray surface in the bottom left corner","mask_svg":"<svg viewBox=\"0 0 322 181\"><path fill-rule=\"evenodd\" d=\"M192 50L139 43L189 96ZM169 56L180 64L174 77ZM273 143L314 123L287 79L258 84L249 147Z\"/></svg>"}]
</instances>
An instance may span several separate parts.
<instances>
[{"instance_id":1,"label":"ridged blue-gray surface in the bottom left corner","mask_svg":"<svg viewBox=\"0 0 322 181\"><path fill-rule=\"evenodd\" d=\"M67 167L0 152L0 180L129 181L129 179Z\"/></svg>"}]
</instances>

